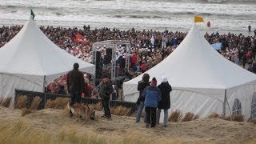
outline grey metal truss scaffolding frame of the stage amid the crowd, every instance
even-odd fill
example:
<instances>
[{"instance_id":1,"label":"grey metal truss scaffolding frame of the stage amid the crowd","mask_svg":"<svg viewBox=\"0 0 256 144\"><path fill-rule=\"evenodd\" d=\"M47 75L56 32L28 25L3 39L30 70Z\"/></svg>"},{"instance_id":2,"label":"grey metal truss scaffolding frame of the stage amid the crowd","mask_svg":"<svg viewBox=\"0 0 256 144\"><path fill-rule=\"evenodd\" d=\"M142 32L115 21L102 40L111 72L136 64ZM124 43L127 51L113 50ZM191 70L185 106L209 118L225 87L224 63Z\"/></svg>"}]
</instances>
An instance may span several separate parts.
<instances>
[{"instance_id":1,"label":"grey metal truss scaffolding frame of the stage amid the crowd","mask_svg":"<svg viewBox=\"0 0 256 144\"><path fill-rule=\"evenodd\" d=\"M111 79L116 78L116 67L117 67L117 48L118 46L125 47L125 53L126 53L126 70L129 70L130 65L130 41L123 41L123 40L107 40L102 42L94 42L93 43L93 63L96 62L96 51L99 51L100 49L112 49L112 58L111 58ZM96 73L96 70L95 70ZM95 74L96 75L96 74Z\"/></svg>"}]
</instances>

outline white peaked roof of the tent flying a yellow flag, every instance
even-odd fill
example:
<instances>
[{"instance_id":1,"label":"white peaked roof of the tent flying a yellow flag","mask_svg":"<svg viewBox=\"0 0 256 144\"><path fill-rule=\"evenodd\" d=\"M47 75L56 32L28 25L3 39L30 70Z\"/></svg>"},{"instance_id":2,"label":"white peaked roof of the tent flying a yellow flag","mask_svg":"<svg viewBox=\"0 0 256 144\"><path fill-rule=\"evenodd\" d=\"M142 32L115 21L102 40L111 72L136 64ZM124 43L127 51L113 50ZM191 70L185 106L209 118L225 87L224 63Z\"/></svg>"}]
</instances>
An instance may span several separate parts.
<instances>
[{"instance_id":1,"label":"white peaked roof of the tent flying a yellow flag","mask_svg":"<svg viewBox=\"0 0 256 144\"><path fill-rule=\"evenodd\" d=\"M146 71L158 83L166 75L172 86L178 88L226 89L256 80L256 75L230 62L210 46L196 24L182 43L162 62ZM134 84L142 74L126 82Z\"/></svg>"}]
</instances>

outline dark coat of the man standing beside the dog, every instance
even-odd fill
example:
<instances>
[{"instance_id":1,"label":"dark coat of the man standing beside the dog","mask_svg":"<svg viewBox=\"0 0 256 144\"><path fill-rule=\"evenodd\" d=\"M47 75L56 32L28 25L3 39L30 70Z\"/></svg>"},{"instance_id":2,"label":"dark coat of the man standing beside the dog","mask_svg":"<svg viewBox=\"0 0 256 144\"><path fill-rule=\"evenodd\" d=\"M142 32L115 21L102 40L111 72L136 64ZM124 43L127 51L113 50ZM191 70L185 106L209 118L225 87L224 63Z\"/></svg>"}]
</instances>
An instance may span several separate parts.
<instances>
[{"instance_id":1,"label":"dark coat of the man standing beside the dog","mask_svg":"<svg viewBox=\"0 0 256 144\"><path fill-rule=\"evenodd\" d=\"M83 78L83 74L79 70L71 70L67 74L66 79L67 88L70 92L86 92L86 82Z\"/></svg>"}]
</instances>

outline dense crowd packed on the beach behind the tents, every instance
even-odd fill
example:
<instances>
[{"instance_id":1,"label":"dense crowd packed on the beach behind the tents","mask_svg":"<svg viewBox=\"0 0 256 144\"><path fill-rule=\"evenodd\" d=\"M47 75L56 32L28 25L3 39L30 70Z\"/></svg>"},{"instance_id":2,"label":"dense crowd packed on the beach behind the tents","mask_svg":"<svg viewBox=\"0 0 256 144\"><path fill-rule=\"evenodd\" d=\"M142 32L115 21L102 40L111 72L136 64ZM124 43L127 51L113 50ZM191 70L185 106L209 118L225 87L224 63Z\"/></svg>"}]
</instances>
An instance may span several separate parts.
<instances>
[{"instance_id":1,"label":"dense crowd packed on the beach behind the tents","mask_svg":"<svg viewBox=\"0 0 256 144\"><path fill-rule=\"evenodd\" d=\"M0 49L18 34L22 26L0 27ZM91 30L90 26L83 26L83 29L64 28L53 26L40 26L40 29L52 42L58 45L67 53L81 58L83 61L92 62L92 46L94 42L106 40L127 40L130 41L130 55L126 54L123 46L116 49L118 65L122 66L122 58L130 58L130 74L140 74L149 70L152 66L166 58L180 42L186 37L186 33L178 31L155 31L155 30L118 30L116 28L101 28ZM242 34L205 34L210 44L222 42L222 49L218 50L225 58L243 66L247 70L256 73L256 32L254 36ZM78 34L82 40L78 41ZM106 54L104 47L99 48L102 57ZM90 86L90 74L85 74L86 82ZM66 94L66 76L62 76L50 83L48 90L52 93ZM93 87L93 86L91 86ZM90 88L93 89L93 88ZM89 94L89 96L91 96Z\"/></svg>"}]
</instances>

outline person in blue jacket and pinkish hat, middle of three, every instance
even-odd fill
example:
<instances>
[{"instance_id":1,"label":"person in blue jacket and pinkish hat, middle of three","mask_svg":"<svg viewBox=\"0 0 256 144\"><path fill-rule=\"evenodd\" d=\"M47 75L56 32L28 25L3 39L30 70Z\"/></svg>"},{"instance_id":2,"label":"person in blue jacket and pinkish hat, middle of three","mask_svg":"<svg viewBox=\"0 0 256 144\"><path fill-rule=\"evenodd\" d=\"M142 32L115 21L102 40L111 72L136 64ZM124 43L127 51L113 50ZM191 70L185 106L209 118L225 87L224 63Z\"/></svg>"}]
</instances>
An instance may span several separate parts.
<instances>
[{"instance_id":1,"label":"person in blue jacket and pinkish hat, middle of three","mask_svg":"<svg viewBox=\"0 0 256 144\"><path fill-rule=\"evenodd\" d=\"M156 124L156 111L158 102L161 101L161 90L157 87L156 78L152 78L151 85L146 86L142 92L142 97L145 97L144 105L146 112L146 127L155 127Z\"/></svg>"}]
</instances>

